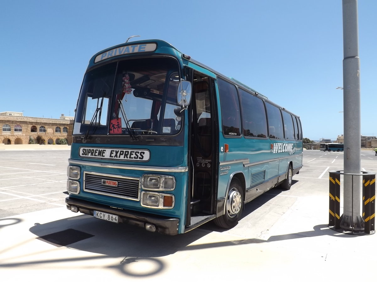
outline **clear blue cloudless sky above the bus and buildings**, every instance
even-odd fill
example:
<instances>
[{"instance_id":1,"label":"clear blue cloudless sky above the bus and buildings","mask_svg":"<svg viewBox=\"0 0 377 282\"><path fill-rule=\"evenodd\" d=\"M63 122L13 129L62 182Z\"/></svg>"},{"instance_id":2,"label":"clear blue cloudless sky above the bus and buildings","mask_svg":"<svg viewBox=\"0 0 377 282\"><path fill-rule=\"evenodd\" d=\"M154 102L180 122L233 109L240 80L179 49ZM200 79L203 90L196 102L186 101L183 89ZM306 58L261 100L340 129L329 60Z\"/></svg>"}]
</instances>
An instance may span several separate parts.
<instances>
[{"instance_id":1,"label":"clear blue cloudless sky above the bus and buildings","mask_svg":"<svg viewBox=\"0 0 377 282\"><path fill-rule=\"evenodd\" d=\"M299 115L304 137L343 134L341 0L1 3L0 112L74 115L90 57L141 35L169 42ZM361 133L377 135L377 1L360 0L358 8Z\"/></svg>"}]
</instances>

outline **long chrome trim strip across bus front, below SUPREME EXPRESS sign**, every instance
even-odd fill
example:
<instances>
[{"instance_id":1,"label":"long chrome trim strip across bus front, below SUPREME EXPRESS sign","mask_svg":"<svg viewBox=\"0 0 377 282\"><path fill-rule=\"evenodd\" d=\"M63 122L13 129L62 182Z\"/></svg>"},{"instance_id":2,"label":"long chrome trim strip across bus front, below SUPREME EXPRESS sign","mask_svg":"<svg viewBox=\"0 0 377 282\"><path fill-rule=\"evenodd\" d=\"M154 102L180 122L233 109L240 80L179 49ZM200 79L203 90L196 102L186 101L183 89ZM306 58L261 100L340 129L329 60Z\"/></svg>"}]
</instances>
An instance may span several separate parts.
<instances>
[{"instance_id":1,"label":"long chrome trim strip across bus front, below SUPREME EXPRESS sign","mask_svg":"<svg viewBox=\"0 0 377 282\"><path fill-rule=\"evenodd\" d=\"M68 159L69 164L79 164L79 165L92 165L95 167L106 167L106 168L120 168L125 170L147 170L147 171L162 171L162 172L185 172L189 171L189 167L150 167L142 165L123 165L123 164L106 164L101 162L87 162L87 161L77 161L74 159Z\"/></svg>"}]
</instances>

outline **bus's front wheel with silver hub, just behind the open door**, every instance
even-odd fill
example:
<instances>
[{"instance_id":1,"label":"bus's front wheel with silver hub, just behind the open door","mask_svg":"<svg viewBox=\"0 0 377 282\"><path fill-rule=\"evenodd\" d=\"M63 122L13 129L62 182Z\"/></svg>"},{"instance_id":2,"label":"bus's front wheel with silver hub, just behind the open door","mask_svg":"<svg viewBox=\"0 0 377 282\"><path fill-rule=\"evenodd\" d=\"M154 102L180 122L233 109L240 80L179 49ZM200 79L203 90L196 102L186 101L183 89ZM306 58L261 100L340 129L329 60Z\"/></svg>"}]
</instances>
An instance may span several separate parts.
<instances>
[{"instance_id":1,"label":"bus's front wheel with silver hub, just behind the open door","mask_svg":"<svg viewBox=\"0 0 377 282\"><path fill-rule=\"evenodd\" d=\"M229 229L237 225L244 208L244 193L238 179L232 179L225 200L225 214L215 218L215 224Z\"/></svg>"}]
</instances>

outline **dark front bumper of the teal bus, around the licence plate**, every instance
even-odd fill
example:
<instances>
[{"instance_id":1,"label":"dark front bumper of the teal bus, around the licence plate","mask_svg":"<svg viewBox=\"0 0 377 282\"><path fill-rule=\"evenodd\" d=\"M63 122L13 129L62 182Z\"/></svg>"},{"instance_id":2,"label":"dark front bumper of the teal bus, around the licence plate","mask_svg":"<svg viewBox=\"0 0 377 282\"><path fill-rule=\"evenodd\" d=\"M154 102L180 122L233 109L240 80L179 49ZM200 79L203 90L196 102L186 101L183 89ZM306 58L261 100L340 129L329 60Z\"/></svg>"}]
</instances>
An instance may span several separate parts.
<instances>
[{"instance_id":1,"label":"dark front bumper of the teal bus, around the licence plate","mask_svg":"<svg viewBox=\"0 0 377 282\"><path fill-rule=\"evenodd\" d=\"M106 212L108 214L118 215L119 223L126 223L143 228L146 228L146 224L153 224L156 227L156 231L159 233L166 235L178 234L178 218L169 218L158 215L145 214L142 212L129 211L126 209L111 208L106 205L92 203L80 199L72 199L70 197L66 198L66 205L67 209L69 209L70 211L75 211L75 209L77 209L77 211L75 212L81 212L83 214L92 216L94 211Z\"/></svg>"}]
</instances>

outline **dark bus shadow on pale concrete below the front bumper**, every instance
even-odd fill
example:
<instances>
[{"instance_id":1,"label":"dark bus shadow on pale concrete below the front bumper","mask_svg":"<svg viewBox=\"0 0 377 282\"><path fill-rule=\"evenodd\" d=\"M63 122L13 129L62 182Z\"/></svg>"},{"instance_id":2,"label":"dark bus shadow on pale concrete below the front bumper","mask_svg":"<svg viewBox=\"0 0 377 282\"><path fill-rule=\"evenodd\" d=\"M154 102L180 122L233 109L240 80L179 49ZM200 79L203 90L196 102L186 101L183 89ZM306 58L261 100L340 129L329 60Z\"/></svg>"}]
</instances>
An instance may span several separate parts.
<instances>
[{"instance_id":1,"label":"dark bus shadow on pale concrete below the front bumper","mask_svg":"<svg viewBox=\"0 0 377 282\"><path fill-rule=\"evenodd\" d=\"M80 232L92 235L90 237L84 235L84 240L71 243L68 245L69 247L92 253L101 253L111 257L156 257L171 255L181 250L182 247L210 233L210 231L202 230L201 232L189 232L184 235L169 236L148 232L143 228L127 224L115 224L99 220L90 215L78 215L44 224L35 223L29 229L30 232L38 237L47 238L47 240L42 240L47 243L49 243L49 237L53 238L54 234L61 235L61 232L64 230L67 230L67 232L77 230L78 232L75 232L75 234L78 236L80 236ZM153 242L153 247L146 247L148 245L147 242ZM54 246L59 245L56 244L56 241L51 242L51 244Z\"/></svg>"}]
</instances>

